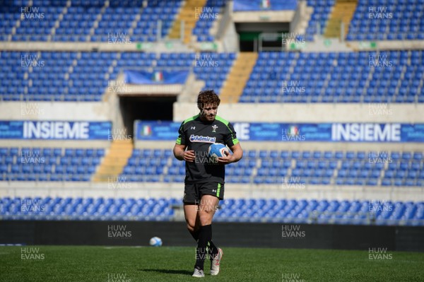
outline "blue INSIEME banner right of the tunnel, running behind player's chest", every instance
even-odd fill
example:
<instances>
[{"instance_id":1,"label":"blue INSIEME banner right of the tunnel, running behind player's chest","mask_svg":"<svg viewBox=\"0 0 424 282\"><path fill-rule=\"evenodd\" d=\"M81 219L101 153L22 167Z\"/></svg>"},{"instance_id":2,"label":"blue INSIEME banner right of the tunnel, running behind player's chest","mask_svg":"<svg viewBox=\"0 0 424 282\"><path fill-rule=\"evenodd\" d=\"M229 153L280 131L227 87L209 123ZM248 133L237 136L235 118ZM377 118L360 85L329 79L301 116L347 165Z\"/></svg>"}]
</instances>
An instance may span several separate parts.
<instances>
[{"instance_id":1,"label":"blue INSIEME banner right of the tunnel, running behind player's chest","mask_svg":"<svg viewBox=\"0 0 424 282\"><path fill-rule=\"evenodd\" d=\"M180 122L135 122L137 140L175 141ZM424 124L232 123L242 141L424 142Z\"/></svg>"}]
</instances>

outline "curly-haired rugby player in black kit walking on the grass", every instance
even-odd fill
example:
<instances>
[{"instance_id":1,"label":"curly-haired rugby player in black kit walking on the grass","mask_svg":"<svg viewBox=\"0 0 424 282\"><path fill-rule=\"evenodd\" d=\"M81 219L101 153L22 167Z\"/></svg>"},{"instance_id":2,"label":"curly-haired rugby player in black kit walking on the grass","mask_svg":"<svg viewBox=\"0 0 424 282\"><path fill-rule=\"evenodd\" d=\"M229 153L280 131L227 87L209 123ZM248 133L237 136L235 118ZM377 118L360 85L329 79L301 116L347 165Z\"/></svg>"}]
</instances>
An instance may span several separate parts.
<instances>
[{"instance_id":1,"label":"curly-haired rugby player in black kit walking on the grass","mask_svg":"<svg viewBox=\"0 0 424 282\"><path fill-rule=\"evenodd\" d=\"M204 277L206 254L211 259L211 275L218 275L223 250L212 242L212 219L219 200L224 199L225 165L242 158L243 151L232 124L217 114L220 99L213 90L199 93L199 114L182 122L174 155L185 160L184 216L187 229L197 242L194 277ZM223 143L232 154L208 157L212 143ZM207 251L206 251L207 250Z\"/></svg>"}]
</instances>

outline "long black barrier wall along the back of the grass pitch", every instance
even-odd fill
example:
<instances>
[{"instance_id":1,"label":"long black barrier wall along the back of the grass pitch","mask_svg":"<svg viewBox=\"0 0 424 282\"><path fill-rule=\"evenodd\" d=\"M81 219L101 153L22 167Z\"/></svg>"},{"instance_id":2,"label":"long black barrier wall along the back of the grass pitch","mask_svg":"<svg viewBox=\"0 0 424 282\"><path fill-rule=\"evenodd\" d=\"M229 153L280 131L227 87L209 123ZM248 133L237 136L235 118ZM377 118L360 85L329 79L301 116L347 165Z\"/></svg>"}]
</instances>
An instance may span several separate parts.
<instances>
[{"instance_id":1,"label":"long black barrier wall along the back of the grass pitch","mask_svg":"<svg viewBox=\"0 0 424 282\"><path fill-rule=\"evenodd\" d=\"M109 233L119 226L131 234ZM295 236L290 230L297 230ZM0 244L147 246L153 236L162 238L164 246L194 247L183 222L0 221ZM221 247L358 249L365 258L370 248L424 252L424 227L213 223L213 236Z\"/></svg>"}]
</instances>

